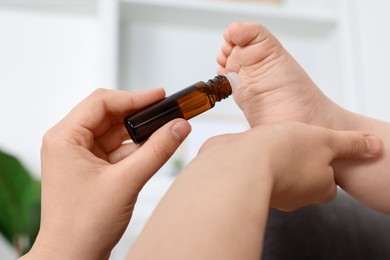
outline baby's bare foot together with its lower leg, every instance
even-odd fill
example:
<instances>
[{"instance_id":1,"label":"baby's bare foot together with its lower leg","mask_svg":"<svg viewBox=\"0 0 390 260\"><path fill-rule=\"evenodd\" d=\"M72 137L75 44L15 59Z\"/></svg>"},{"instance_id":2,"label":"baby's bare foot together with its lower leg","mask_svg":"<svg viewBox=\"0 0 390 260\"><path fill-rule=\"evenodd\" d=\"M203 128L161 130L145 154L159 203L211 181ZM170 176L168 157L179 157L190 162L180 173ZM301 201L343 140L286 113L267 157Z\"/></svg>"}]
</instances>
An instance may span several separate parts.
<instances>
[{"instance_id":1,"label":"baby's bare foot together with its lower leg","mask_svg":"<svg viewBox=\"0 0 390 260\"><path fill-rule=\"evenodd\" d=\"M369 132L384 145L371 161L339 160L335 179L365 205L390 213L390 124L343 109L320 91L280 42L262 25L233 23L224 32L219 73L237 72L242 85L234 98L252 127L301 121L336 130Z\"/></svg>"}]
</instances>

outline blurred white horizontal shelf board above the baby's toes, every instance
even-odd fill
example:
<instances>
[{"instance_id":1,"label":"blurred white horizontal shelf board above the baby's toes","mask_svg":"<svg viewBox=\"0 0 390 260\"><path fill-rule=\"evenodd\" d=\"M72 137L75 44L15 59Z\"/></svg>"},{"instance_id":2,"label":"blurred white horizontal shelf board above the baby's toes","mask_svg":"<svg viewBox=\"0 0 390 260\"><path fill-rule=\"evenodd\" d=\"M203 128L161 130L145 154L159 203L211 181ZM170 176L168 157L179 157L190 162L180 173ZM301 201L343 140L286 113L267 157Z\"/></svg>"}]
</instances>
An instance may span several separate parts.
<instances>
[{"instance_id":1,"label":"blurred white horizontal shelf board above the baby's toes","mask_svg":"<svg viewBox=\"0 0 390 260\"><path fill-rule=\"evenodd\" d=\"M337 15L332 8L321 6L292 4L267 4L254 1L232 1L232 0L122 0L123 14L126 17L134 11L141 15L140 9L150 10L164 8L171 10L190 10L191 12L207 12L225 15L243 16L248 19L262 17L265 19L288 20L296 22L310 22L321 24L334 24L337 22Z\"/></svg>"}]
</instances>

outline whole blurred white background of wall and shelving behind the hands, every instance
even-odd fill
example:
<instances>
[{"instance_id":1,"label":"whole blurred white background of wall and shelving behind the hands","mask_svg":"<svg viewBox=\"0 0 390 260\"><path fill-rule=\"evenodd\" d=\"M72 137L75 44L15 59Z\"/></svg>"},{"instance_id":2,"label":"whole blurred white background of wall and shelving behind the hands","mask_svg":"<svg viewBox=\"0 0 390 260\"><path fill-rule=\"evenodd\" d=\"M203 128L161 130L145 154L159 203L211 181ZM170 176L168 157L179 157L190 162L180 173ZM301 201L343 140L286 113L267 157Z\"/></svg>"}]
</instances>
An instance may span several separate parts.
<instances>
[{"instance_id":1,"label":"whole blurred white background of wall and shelving behind the hands","mask_svg":"<svg viewBox=\"0 0 390 260\"><path fill-rule=\"evenodd\" d=\"M386 0L0 0L0 151L39 182L42 136L74 105L98 87L170 94L213 78L233 21L264 24L335 102L389 121L389 11ZM204 140L247 128L233 99L190 122L111 259L123 259ZM11 221L0 203L0 219ZM17 255L0 235L0 259Z\"/></svg>"}]
</instances>

